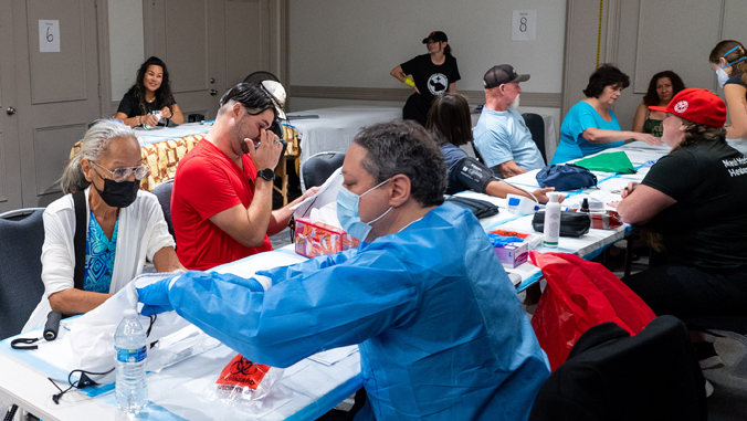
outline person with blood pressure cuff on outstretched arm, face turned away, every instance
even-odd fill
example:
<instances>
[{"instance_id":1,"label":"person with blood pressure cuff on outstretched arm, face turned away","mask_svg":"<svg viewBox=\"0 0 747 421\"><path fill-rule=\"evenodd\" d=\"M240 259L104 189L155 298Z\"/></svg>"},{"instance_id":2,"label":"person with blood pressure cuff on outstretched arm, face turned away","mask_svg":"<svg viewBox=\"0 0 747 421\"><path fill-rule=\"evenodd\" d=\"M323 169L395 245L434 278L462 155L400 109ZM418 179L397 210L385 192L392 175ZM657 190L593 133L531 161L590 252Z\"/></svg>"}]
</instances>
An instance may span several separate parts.
<instances>
[{"instance_id":1,"label":"person with blood pressure cuff on outstretched arm, face turned away","mask_svg":"<svg viewBox=\"0 0 747 421\"><path fill-rule=\"evenodd\" d=\"M537 189L532 192L522 190L493 176L493 171L460 148L472 141L472 120L470 104L460 94L443 94L433 99L428 113L425 127L431 130L441 147L446 164L449 187L446 194L455 194L464 190L505 198L506 194L526 196L547 203L548 191L554 187Z\"/></svg>"}]
</instances>

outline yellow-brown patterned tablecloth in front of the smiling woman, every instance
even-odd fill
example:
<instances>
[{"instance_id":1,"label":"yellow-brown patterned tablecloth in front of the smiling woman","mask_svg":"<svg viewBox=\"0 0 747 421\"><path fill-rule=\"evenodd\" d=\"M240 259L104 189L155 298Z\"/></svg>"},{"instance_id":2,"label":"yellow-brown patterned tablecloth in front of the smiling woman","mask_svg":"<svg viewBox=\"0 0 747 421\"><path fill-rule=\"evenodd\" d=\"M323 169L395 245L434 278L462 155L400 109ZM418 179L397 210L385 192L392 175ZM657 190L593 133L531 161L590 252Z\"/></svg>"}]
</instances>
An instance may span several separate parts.
<instances>
[{"instance_id":1,"label":"yellow-brown patterned tablecloth in front of the smiling woman","mask_svg":"<svg viewBox=\"0 0 747 421\"><path fill-rule=\"evenodd\" d=\"M297 161L301 156L301 137L298 136L298 131L292 126L283 125L283 130L285 133L285 139L288 141L285 156L296 157L297 170ZM140 181L140 190L152 191L152 189L161 182L173 179L173 176L177 173L177 164L179 160L192 150L194 145L197 145L204 135L206 134L185 136L141 146L143 159L150 168L150 172L148 173L148 177ZM78 141L71 149L70 157L72 158L80 149L81 143Z\"/></svg>"}]
</instances>

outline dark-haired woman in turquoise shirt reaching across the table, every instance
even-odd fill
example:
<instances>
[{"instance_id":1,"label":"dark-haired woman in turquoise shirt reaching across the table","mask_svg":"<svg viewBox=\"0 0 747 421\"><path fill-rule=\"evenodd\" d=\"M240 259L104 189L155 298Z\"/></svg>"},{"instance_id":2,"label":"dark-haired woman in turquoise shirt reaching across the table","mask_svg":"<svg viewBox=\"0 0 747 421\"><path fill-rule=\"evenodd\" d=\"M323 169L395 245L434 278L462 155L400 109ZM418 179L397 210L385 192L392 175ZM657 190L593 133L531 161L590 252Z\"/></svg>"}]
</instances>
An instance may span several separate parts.
<instances>
[{"instance_id":1,"label":"dark-haired woman in turquoise shirt reaching across the table","mask_svg":"<svg viewBox=\"0 0 747 421\"><path fill-rule=\"evenodd\" d=\"M560 144L550 165L583 158L608 148L624 145L624 140L640 140L661 145L657 137L645 133L621 131L612 105L630 77L611 64L602 64L589 76L583 94L586 99L574 105L560 126Z\"/></svg>"}]
</instances>

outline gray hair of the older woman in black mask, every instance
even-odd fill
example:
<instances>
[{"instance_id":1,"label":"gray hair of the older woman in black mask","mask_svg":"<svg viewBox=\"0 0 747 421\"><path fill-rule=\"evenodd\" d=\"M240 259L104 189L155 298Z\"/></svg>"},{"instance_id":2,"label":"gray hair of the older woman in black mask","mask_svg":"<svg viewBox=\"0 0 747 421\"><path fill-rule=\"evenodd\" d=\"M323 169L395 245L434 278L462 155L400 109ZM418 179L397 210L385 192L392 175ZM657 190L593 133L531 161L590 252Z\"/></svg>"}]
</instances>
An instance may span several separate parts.
<instances>
[{"instance_id":1,"label":"gray hair of the older woman in black mask","mask_svg":"<svg viewBox=\"0 0 747 421\"><path fill-rule=\"evenodd\" d=\"M62 192L67 194L86 189L91 182L85 179L81 168L81 159L97 160L106 152L109 140L120 137L135 137L135 133L117 120L99 119L94 122L93 126L85 133L81 148L73 155L62 171L60 178Z\"/></svg>"}]
</instances>

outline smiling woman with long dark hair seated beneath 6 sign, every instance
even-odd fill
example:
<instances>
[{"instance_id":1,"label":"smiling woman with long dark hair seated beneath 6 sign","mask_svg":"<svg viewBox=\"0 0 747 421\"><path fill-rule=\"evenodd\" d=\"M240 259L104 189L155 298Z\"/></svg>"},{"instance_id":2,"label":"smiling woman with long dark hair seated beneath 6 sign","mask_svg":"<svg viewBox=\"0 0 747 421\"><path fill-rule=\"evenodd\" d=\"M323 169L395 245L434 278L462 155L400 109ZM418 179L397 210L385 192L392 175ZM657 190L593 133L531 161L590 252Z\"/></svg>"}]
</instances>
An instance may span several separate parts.
<instances>
[{"instance_id":1,"label":"smiling woman with long dark hair seated beneath 6 sign","mask_svg":"<svg viewBox=\"0 0 747 421\"><path fill-rule=\"evenodd\" d=\"M119 102L114 118L129 127L157 126L159 120L161 125L185 123L185 116L171 95L169 71L162 60L154 56L140 65L135 84Z\"/></svg>"}]
</instances>

